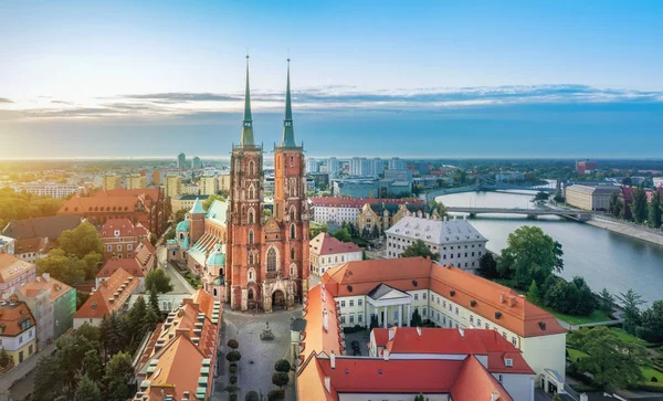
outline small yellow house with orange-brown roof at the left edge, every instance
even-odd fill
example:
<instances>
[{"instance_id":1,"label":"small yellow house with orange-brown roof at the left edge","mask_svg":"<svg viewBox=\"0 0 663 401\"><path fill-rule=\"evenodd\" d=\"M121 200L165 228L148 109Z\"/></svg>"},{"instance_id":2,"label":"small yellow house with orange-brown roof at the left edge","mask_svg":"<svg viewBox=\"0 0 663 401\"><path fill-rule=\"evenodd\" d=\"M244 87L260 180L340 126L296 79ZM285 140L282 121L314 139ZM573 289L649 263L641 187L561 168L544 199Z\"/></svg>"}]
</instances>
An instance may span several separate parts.
<instances>
[{"instance_id":1,"label":"small yellow house with orange-brown roof at the left edge","mask_svg":"<svg viewBox=\"0 0 663 401\"><path fill-rule=\"evenodd\" d=\"M0 344L14 366L36 352L34 316L28 305L15 296L0 303Z\"/></svg>"}]
</instances>

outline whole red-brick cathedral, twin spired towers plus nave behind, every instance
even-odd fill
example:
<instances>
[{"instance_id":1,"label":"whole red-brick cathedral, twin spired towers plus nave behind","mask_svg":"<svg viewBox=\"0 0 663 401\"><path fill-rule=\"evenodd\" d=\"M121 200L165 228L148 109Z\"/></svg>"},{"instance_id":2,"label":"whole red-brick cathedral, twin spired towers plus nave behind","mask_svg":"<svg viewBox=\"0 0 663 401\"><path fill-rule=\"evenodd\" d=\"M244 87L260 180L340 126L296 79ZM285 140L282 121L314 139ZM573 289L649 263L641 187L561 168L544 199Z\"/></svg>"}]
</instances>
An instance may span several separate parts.
<instances>
[{"instance_id":1,"label":"whole red-brick cathedral, twin spired towers plus nave behind","mask_svg":"<svg viewBox=\"0 0 663 401\"><path fill-rule=\"evenodd\" d=\"M168 242L169 258L186 261L206 289L232 309L291 308L308 292L309 211L304 148L296 145L293 127L290 60L271 215L263 201L263 152L253 135L246 57L244 118L240 143L232 146L229 200L215 201L207 214L197 201Z\"/></svg>"}]
</instances>

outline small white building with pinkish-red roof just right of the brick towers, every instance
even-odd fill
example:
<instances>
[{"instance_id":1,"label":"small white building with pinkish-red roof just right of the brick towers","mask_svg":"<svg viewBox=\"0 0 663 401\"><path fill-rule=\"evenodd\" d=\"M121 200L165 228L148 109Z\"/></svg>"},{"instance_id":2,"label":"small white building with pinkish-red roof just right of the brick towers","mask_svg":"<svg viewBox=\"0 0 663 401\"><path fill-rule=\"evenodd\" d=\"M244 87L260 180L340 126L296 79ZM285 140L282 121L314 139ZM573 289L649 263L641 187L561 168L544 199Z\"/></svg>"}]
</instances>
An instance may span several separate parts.
<instances>
[{"instance_id":1,"label":"small white building with pinkish-red roof just right of the brick towers","mask_svg":"<svg viewBox=\"0 0 663 401\"><path fill-rule=\"evenodd\" d=\"M309 242L311 273L322 276L332 267L351 261L361 261L364 252L352 242L340 242L322 232Z\"/></svg>"}]
</instances>

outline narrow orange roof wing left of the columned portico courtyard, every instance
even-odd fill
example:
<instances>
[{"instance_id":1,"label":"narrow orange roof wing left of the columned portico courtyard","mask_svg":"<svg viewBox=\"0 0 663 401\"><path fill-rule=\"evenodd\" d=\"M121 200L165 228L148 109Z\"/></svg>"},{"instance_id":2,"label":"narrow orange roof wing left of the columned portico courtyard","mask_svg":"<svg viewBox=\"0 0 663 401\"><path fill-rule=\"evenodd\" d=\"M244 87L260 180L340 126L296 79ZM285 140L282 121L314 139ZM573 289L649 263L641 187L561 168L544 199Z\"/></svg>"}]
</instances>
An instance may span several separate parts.
<instances>
[{"instance_id":1,"label":"narrow orange roof wing left of the columned portico courtyard","mask_svg":"<svg viewBox=\"0 0 663 401\"><path fill-rule=\"evenodd\" d=\"M324 300L323 300L324 294ZM306 331L303 333L303 355L311 352L334 351L336 355L343 355L343 340L340 329L338 328L338 312L336 302L332 294L323 289L323 285L316 285L308 292L306 298L304 318L306 319ZM327 313L327 328L324 327L324 314Z\"/></svg>"}]
</instances>

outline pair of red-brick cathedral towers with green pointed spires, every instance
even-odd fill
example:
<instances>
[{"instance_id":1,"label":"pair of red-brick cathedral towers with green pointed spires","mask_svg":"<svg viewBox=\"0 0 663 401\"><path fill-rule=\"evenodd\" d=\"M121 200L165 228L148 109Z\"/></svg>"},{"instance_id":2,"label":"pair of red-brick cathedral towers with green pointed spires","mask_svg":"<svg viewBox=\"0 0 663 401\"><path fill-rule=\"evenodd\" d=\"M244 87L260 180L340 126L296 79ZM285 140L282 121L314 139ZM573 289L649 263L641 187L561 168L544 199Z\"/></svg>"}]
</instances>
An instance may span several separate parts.
<instances>
[{"instance_id":1,"label":"pair of red-brick cathedral towers with green pointed spires","mask_svg":"<svg viewBox=\"0 0 663 401\"><path fill-rule=\"evenodd\" d=\"M274 147L274 209L263 203L263 148L255 144L249 88L239 146L230 159L225 299L232 309L290 308L308 292L308 207L304 148L295 144L290 88L281 144Z\"/></svg>"}]
</instances>

